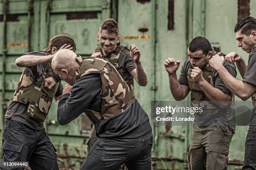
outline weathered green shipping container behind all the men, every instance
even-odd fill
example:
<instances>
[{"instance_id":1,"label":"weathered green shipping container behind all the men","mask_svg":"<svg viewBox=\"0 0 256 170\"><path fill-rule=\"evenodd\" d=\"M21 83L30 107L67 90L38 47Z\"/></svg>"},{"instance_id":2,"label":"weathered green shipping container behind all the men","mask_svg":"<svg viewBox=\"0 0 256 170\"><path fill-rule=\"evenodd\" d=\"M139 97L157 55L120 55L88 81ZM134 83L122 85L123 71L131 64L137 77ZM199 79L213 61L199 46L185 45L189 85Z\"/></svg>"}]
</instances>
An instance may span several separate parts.
<instances>
[{"instance_id":1,"label":"weathered green shipping container behind all the men","mask_svg":"<svg viewBox=\"0 0 256 170\"><path fill-rule=\"evenodd\" d=\"M28 51L44 50L49 38L70 35L77 44L77 53L90 56L98 43L100 24L107 18L116 19L121 44L136 44L141 49L148 84L136 84L135 93L150 117L151 100L174 100L164 60L174 57L183 63L193 37L204 36L222 52L236 51L248 60L248 54L237 47L233 29L238 18L256 17L256 10L252 10L255 8L256 0L1 0L0 138L6 109L23 70L15 65L15 59ZM239 74L237 77L241 79ZM45 128L58 150L59 166L79 169L87 155L90 120L82 114L68 125L58 125L56 109L54 102ZM192 127L151 125L153 168L188 169L186 157ZM229 170L240 170L243 165L247 130L248 126L236 128L230 145Z\"/></svg>"}]
</instances>

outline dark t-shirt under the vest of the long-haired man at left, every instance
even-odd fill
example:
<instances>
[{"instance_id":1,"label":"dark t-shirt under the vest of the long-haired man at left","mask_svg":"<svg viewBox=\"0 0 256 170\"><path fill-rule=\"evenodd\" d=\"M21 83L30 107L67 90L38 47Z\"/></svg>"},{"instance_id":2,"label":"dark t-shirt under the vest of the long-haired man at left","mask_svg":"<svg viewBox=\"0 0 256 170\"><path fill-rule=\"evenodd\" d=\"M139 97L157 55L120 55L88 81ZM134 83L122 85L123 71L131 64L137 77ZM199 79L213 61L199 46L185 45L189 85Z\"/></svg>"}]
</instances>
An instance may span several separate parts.
<instances>
[{"instance_id":1,"label":"dark t-shirt under the vest of the long-haired man at left","mask_svg":"<svg viewBox=\"0 0 256 170\"><path fill-rule=\"evenodd\" d=\"M24 55L47 55L45 52L27 52ZM28 67L33 73L33 79L36 85L40 80L44 79L44 71L46 68L46 63L41 63L35 66ZM61 95L63 87L59 83L59 88L55 96ZM40 130L44 128L44 125L36 121L33 117L28 115L28 103L24 104L21 102L11 102L8 106L7 112L5 113L5 118L22 122L34 130Z\"/></svg>"}]
</instances>

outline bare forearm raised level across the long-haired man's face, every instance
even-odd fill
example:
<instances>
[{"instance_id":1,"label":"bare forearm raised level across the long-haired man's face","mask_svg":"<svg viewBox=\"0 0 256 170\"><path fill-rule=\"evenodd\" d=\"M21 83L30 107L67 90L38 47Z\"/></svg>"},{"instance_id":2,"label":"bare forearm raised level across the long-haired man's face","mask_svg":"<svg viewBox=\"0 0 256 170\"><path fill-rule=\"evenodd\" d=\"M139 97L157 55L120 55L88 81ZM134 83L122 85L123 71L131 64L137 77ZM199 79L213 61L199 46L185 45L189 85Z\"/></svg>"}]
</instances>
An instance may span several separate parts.
<instances>
[{"instance_id":1,"label":"bare forearm raised level across the long-haired man's face","mask_svg":"<svg viewBox=\"0 0 256 170\"><path fill-rule=\"evenodd\" d=\"M53 55L23 55L15 61L18 67L31 67L44 62L51 62Z\"/></svg>"}]
</instances>

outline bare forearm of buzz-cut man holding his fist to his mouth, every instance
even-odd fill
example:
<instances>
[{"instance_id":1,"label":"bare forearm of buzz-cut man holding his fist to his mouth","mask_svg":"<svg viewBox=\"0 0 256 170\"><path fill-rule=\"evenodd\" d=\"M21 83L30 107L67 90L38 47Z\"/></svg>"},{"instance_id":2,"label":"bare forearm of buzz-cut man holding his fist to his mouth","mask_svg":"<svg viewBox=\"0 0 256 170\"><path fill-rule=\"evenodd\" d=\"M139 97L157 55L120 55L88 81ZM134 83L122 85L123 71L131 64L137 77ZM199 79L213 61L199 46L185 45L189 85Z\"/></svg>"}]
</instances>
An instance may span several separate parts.
<instances>
[{"instance_id":1,"label":"bare forearm of buzz-cut man holding his fist to his mouth","mask_svg":"<svg viewBox=\"0 0 256 170\"><path fill-rule=\"evenodd\" d=\"M202 80L198 84L202 91L205 93L205 95L208 97L208 99L215 104L220 105L220 107L226 107L228 102L223 101L230 101L232 99L230 95L225 94L218 88L212 87L212 85L210 85L209 82L207 82L206 80Z\"/></svg>"}]
</instances>

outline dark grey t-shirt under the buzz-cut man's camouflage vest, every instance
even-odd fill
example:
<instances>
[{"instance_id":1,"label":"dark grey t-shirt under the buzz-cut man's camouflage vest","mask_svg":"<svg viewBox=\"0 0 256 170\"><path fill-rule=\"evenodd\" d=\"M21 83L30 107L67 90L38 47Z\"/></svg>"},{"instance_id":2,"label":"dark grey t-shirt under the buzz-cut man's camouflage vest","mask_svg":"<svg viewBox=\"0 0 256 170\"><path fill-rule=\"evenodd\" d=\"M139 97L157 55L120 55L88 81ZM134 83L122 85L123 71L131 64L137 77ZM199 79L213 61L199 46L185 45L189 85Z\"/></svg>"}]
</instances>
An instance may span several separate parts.
<instances>
[{"instance_id":1,"label":"dark grey t-shirt under the buzz-cut man's camouflage vest","mask_svg":"<svg viewBox=\"0 0 256 170\"><path fill-rule=\"evenodd\" d=\"M190 67L189 59L187 59L182 65L181 74L179 76L179 83L181 85L188 86L187 82L187 71ZM228 63L225 61L223 63L224 67L230 72L233 77L236 77L236 67L233 64ZM216 70L212 71L212 81L215 88L218 88L220 91L232 96L233 94L230 90L225 86L224 82L220 79L220 76ZM212 124L215 120L223 123L224 125L230 125L232 129L235 129L235 122L234 122L234 110L226 110L225 108L219 109L218 113L215 117L198 117L195 115L195 121L200 127L206 127Z\"/></svg>"}]
</instances>

